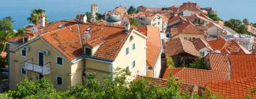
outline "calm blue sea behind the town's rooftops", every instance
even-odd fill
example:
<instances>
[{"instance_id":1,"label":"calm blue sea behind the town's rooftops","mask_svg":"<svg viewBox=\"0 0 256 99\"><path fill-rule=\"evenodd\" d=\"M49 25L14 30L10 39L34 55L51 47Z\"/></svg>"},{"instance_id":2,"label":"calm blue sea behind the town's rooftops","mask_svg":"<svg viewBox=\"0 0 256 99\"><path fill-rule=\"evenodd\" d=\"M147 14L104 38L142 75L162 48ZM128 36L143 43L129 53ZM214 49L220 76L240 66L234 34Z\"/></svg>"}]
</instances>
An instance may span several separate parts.
<instances>
[{"instance_id":1,"label":"calm blue sea behind the town's rooftops","mask_svg":"<svg viewBox=\"0 0 256 99\"><path fill-rule=\"evenodd\" d=\"M112 10L115 6L150 6L166 7L181 5L187 0L1 0L0 18L14 18L14 28L23 28L28 24L26 18L33 8L46 9L48 21L74 18L77 13L90 11L90 4L98 4L100 13ZM211 6L224 20L229 18L248 18L256 22L256 0L191 0L202 7Z\"/></svg>"}]
</instances>

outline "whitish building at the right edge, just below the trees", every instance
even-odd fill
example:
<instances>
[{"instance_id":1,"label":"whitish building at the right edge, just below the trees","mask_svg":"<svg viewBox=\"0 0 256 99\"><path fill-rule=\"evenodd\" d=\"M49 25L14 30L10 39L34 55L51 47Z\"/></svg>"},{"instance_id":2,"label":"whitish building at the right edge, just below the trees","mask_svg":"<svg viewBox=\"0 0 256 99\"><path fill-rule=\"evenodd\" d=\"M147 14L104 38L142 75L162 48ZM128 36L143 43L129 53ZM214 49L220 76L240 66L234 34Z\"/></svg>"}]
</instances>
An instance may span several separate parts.
<instances>
[{"instance_id":1,"label":"whitish building at the right edge, just below the trees","mask_svg":"<svg viewBox=\"0 0 256 99\"><path fill-rule=\"evenodd\" d=\"M238 42L242 47L245 47L246 50L252 52L254 49L253 44L254 44L254 37L251 35L246 35L246 34L236 34L234 35L234 39L236 42Z\"/></svg>"}]
</instances>

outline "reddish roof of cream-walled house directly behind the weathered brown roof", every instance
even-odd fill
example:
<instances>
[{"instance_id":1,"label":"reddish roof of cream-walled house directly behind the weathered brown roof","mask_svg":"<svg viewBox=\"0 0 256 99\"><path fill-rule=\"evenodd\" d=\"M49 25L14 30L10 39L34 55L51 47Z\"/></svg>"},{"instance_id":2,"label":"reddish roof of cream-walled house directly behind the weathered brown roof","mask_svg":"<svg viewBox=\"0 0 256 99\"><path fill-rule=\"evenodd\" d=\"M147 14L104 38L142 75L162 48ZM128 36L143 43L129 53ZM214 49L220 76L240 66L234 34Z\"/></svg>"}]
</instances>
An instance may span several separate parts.
<instances>
[{"instance_id":1,"label":"reddish roof of cream-walled house directly behind the weathered brown roof","mask_svg":"<svg viewBox=\"0 0 256 99\"><path fill-rule=\"evenodd\" d=\"M185 34L202 34L202 35L206 35L206 33L203 33L201 30L198 30L198 28L196 28L195 25L193 25L193 23L191 23L190 21L187 21L185 23L181 23L177 26L178 29L178 34L179 33L185 33ZM175 35L171 35L172 37L174 37Z\"/></svg>"}]
</instances>

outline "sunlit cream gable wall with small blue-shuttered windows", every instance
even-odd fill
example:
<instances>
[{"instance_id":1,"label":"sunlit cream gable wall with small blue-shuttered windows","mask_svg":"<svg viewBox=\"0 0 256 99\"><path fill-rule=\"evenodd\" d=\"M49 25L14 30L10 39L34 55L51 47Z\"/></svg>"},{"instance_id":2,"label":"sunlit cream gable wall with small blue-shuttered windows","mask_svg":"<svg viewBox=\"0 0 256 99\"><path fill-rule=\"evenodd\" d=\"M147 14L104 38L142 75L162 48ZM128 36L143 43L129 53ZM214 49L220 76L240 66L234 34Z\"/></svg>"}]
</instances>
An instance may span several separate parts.
<instances>
[{"instance_id":1,"label":"sunlit cream gable wall with small blue-shuttered windows","mask_svg":"<svg viewBox=\"0 0 256 99\"><path fill-rule=\"evenodd\" d=\"M131 40L131 35L134 36L134 39ZM137 74L144 75L146 70L146 39L137 33L132 33L127 41L124 43L124 46L120 50L117 58L114 61L114 69L117 67L126 69L129 66L129 71L132 72L132 76ZM132 50L132 45L135 43L136 48ZM129 54L126 54L126 48L129 47ZM132 67L132 62L135 60L136 65Z\"/></svg>"}]
</instances>

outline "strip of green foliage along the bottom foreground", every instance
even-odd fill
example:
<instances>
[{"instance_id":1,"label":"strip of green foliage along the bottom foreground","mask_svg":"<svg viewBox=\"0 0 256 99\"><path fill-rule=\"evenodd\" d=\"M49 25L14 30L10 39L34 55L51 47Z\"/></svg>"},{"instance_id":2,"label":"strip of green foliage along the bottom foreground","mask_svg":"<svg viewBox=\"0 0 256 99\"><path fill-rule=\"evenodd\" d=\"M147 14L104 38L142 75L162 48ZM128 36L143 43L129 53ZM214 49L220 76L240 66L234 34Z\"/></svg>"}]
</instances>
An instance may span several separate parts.
<instances>
[{"instance_id":1,"label":"strip of green foliage along the bottom foreground","mask_svg":"<svg viewBox=\"0 0 256 99\"><path fill-rule=\"evenodd\" d=\"M0 98L191 98L188 92L181 93L180 83L174 78L169 78L168 86L161 87L149 84L149 79L129 81L129 71L116 71L105 76L102 83L95 79L95 75L87 76L83 86L71 86L68 91L56 91L44 78L35 81L24 78L15 91L1 93ZM200 97L195 94L193 98L206 98L206 95Z\"/></svg>"}]
</instances>

